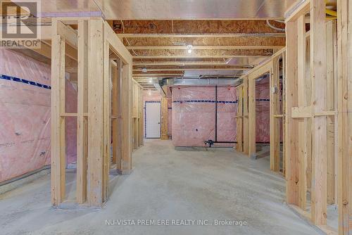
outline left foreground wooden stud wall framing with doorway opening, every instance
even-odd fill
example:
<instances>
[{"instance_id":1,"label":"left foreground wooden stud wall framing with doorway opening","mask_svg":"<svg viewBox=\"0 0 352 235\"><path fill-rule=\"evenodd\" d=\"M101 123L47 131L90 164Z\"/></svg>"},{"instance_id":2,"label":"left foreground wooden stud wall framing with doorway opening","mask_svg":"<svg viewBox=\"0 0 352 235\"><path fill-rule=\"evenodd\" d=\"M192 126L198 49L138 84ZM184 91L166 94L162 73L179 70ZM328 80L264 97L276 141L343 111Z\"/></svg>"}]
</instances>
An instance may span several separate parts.
<instances>
[{"instance_id":1,"label":"left foreground wooden stud wall framing with doorway opening","mask_svg":"<svg viewBox=\"0 0 352 235\"><path fill-rule=\"evenodd\" d=\"M132 104L132 56L101 18L71 19L71 23L77 24L77 32L65 25L65 22L65 19L62 22L60 19L54 19L52 23L54 33L51 39L51 54L55 56L50 56L53 107L51 203L58 206L65 199L65 118L77 117L76 200L77 203L87 201L90 206L101 206L108 198L111 120L123 118L124 121L123 125L113 122L114 139L123 139L117 132L127 138L132 137L132 112L127 108ZM71 53L65 49L65 43L71 48L77 48L77 71L72 70L77 74L77 113L65 112L65 53ZM118 64L120 67L115 65L115 70L112 71L114 66L111 64L110 50L118 56L119 62L124 63L125 72L122 76L118 76L122 73L121 63ZM71 56L75 56L74 53ZM111 75L115 79L111 79ZM123 89L122 85L127 89ZM116 98L113 101L113 110L111 89ZM117 124L119 123L118 121ZM116 167L123 174L128 174L132 167L131 139L120 143L118 141L114 143L113 148Z\"/></svg>"}]
</instances>

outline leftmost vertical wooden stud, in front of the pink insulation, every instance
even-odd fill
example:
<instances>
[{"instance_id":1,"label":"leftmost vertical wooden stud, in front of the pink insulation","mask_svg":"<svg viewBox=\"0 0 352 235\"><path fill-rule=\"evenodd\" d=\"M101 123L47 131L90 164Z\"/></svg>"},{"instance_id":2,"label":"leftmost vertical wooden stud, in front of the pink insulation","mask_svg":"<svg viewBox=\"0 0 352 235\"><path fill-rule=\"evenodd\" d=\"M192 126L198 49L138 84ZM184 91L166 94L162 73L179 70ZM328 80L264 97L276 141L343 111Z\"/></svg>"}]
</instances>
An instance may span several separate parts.
<instances>
[{"instance_id":1,"label":"leftmost vertical wooden stud, in front of the pink insulation","mask_svg":"<svg viewBox=\"0 0 352 235\"><path fill-rule=\"evenodd\" d=\"M65 40L53 20L51 38L51 205L65 198Z\"/></svg>"}]
</instances>

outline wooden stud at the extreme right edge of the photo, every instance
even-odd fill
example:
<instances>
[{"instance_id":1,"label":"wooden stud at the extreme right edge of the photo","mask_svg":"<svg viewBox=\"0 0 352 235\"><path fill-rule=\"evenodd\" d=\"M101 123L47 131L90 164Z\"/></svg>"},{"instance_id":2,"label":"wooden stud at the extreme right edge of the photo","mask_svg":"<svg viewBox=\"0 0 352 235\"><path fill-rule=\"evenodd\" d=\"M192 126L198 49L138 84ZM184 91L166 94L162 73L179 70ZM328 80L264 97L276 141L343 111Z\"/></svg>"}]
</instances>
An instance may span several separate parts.
<instances>
[{"instance_id":1,"label":"wooden stud at the extreme right edge of the photo","mask_svg":"<svg viewBox=\"0 0 352 235\"><path fill-rule=\"evenodd\" d=\"M350 234L352 186L352 4L337 0L338 205L339 234Z\"/></svg>"}]
</instances>

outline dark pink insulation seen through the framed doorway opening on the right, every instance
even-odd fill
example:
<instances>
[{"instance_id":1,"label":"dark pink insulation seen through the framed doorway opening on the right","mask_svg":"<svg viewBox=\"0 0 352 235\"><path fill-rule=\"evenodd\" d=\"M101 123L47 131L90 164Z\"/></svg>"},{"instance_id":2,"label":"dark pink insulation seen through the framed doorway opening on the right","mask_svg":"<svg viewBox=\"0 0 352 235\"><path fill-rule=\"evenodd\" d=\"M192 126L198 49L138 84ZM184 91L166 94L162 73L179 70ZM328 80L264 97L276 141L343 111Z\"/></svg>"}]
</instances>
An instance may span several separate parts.
<instances>
[{"instance_id":1,"label":"dark pink insulation seen through the framed doorway opening on the right","mask_svg":"<svg viewBox=\"0 0 352 235\"><path fill-rule=\"evenodd\" d=\"M269 77L256 82L256 142L270 142L270 85Z\"/></svg>"}]
</instances>

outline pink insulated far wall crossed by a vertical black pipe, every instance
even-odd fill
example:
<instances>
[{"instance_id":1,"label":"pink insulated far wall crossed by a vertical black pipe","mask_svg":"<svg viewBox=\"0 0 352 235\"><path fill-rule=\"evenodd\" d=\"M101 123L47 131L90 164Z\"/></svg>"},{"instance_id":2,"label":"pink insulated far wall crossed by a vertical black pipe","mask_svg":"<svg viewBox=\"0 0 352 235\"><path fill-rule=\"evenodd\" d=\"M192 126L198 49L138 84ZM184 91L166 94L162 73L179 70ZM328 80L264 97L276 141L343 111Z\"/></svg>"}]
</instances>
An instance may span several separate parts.
<instances>
[{"instance_id":1,"label":"pink insulated far wall crossed by a vertical black pipe","mask_svg":"<svg viewBox=\"0 0 352 235\"><path fill-rule=\"evenodd\" d=\"M218 141L236 140L236 113L236 89L218 87ZM172 87L174 146L206 146L210 139L215 141L215 87Z\"/></svg>"}]
</instances>

